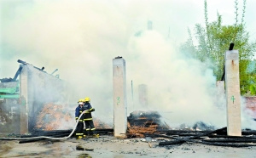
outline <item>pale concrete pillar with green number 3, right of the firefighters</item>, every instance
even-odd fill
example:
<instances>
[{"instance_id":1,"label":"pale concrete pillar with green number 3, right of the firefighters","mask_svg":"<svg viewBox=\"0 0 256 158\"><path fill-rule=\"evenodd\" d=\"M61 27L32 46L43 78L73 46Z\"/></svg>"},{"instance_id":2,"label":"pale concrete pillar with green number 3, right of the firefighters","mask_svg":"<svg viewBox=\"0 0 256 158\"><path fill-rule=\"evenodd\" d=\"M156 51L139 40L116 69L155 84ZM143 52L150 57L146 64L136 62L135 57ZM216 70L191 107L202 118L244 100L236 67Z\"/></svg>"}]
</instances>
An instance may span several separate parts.
<instances>
[{"instance_id":1,"label":"pale concrete pillar with green number 3, right of the firefighters","mask_svg":"<svg viewBox=\"0 0 256 158\"><path fill-rule=\"evenodd\" d=\"M113 135L126 138L127 100L125 59L113 59Z\"/></svg>"}]
</instances>

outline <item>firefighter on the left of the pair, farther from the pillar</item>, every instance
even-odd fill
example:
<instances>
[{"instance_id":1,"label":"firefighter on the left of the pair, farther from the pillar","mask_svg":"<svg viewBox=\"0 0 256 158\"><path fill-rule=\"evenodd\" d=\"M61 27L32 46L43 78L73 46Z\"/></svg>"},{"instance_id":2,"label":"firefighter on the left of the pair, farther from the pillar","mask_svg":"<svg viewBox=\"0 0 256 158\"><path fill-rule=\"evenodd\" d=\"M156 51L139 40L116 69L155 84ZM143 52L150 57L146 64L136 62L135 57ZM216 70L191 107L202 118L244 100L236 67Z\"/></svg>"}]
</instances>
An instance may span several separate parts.
<instances>
[{"instance_id":1,"label":"firefighter on the left of the pair, farther from the pillar","mask_svg":"<svg viewBox=\"0 0 256 158\"><path fill-rule=\"evenodd\" d=\"M81 116L79 119L79 116L80 116L80 114L82 114L82 112L84 110L84 99L79 99L78 104L79 104L79 106L75 110L76 121L79 121L77 129L76 129L76 136L78 139L81 139L81 138L83 138L83 129L84 129L83 119L84 119L84 117Z\"/></svg>"}]
</instances>

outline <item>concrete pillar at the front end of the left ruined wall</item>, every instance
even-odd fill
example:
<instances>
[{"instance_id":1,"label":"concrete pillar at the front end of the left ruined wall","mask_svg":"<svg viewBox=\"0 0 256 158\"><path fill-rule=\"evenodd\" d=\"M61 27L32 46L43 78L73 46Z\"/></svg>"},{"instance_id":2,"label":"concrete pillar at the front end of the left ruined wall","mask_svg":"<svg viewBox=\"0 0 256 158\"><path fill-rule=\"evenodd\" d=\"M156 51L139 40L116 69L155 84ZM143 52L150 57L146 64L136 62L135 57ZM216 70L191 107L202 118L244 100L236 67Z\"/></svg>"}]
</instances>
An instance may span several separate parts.
<instances>
[{"instance_id":1,"label":"concrete pillar at the front end of the left ruined wall","mask_svg":"<svg viewBox=\"0 0 256 158\"><path fill-rule=\"evenodd\" d=\"M22 66L20 72L20 134L28 133L28 69Z\"/></svg>"}]
</instances>

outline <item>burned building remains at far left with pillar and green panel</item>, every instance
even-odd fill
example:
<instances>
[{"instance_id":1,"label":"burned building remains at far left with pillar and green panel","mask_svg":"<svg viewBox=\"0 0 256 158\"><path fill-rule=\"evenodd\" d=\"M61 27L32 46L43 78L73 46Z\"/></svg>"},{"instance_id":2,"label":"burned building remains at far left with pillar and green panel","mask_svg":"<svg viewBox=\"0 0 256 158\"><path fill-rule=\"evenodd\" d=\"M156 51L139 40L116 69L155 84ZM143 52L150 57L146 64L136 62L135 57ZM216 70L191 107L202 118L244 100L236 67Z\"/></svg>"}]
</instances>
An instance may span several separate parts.
<instances>
[{"instance_id":1,"label":"burned building remains at far left with pillar and green panel","mask_svg":"<svg viewBox=\"0 0 256 158\"><path fill-rule=\"evenodd\" d=\"M68 102L68 84L38 68L18 60L14 78L0 81L0 133L31 133L44 104Z\"/></svg>"}]
</instances>

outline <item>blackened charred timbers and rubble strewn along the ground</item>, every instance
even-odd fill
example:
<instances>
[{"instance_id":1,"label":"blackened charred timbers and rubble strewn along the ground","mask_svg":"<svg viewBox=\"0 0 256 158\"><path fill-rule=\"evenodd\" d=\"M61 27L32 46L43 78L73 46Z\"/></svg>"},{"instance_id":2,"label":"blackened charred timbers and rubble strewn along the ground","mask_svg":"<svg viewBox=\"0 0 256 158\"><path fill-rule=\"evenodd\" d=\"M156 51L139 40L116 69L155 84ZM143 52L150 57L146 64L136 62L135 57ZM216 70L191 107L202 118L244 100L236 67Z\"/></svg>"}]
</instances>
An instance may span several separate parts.
<instances>
[{"instance_id":1,"label":"blackened charred timbers and rubble strewn along the ground","mask_svg":"<svg viewBox=\"0 0 256 158\"><path fill-rule=\"evenodd\" d=\"M227 127L215 129L203 122L195 123L193 127L172 129L166 122L160 120L157 111L134 111L127 117L127 138L150 138L156 139L157 146L170 148L172 145L180 144L207 144L226 147L250 147L256 146L256 131L242 130L242 136L228 136ZM53 138L67 137L72 132L69 130L33 130L31 135L20 135L21 138L32 138L38 136L49 136ZM96 128L96 133L102 135L113 135L113 128ZM30 143L47 138L33 138L21 140L19 143ZM58 141L58 140L55 140ZM148 143L149 144L149 143ZM150 144L149 146L152 147Z\"/></svg>"}]
</instances>

